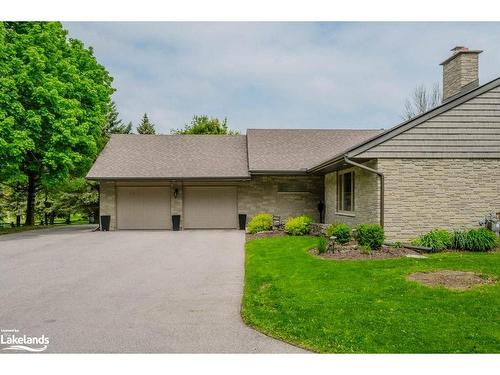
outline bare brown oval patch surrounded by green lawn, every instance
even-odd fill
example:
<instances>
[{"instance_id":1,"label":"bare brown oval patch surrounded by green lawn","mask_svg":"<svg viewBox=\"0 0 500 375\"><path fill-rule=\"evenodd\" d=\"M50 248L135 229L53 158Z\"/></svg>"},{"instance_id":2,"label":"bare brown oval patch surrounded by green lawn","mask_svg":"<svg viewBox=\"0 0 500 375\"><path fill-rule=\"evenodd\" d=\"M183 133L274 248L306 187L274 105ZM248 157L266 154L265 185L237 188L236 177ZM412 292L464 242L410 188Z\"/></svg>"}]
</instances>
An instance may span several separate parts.
<instances>
[{"instance_id":1,"label":"bare brown oval patch surrounded by green lawn","mask_svg":"<svg viewBox=\"0 0 500 375\"><path fill-rule=\"evenodd\" d=\"M409 275L408 280L426 286L444 286L448 289L465 290L476 285L494 284L496 280L483 277L474 272L440 270L433 272L416 272Z\"/></svg>"}]
</instances>

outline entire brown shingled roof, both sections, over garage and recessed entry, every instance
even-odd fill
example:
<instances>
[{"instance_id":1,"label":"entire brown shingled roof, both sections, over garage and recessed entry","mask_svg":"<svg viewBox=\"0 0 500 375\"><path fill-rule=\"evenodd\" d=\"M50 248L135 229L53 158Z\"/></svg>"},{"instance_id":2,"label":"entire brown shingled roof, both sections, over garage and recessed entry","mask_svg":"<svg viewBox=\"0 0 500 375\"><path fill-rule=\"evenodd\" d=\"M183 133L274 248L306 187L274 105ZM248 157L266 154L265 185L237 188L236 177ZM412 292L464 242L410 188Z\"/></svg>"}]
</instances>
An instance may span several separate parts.
<instances>
[{"instance_id":1,"label":"entire brown shingled roof, both sections, over garage and recessed entry","mask_svg":"<svg viewBox=\"0 0 500 375\"><path fill-rule=\"evenodd\" d=\"M305 173L380 130L250 129L244 135L112 135L88 179L249 178Z\"/></svg>"}]
</instances>

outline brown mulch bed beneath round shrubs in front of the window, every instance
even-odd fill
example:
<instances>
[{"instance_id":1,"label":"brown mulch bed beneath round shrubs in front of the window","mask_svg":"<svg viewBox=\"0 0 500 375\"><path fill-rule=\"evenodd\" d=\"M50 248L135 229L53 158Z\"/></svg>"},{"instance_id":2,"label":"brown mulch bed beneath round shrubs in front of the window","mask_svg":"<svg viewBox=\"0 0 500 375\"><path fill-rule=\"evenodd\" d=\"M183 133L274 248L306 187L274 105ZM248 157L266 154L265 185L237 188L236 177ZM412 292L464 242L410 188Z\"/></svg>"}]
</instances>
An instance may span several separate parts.
<instances>
[{"instance_id":1,"label":"brown mulch bed beneath round shrubs in front of the window","mask_svg":"<svg viewBox=\"0 0 500 375\"><path fill-rule=\"evenodd\" d=\"M350 243L347 245L335 245L335 252L326 252L319 254L318 249L312 249L310 251L312 255L320 258L327 259L387 259L387 258L401 258L401 257L420 257L420 253L408 249L406 247L390 247L382 246L379 250L372 250L369 254L364 254L360 251L356 243Z\"/></svg>"}]
</instances>

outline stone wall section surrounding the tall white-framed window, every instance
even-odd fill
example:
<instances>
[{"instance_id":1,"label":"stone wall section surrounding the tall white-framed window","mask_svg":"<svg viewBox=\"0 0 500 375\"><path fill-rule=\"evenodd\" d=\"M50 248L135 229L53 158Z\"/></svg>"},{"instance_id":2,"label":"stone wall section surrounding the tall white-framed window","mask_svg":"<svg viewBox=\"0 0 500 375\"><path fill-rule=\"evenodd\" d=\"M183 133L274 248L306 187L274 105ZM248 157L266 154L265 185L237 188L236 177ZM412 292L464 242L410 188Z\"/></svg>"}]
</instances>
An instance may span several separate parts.
<instances>
[{"instance_id":1,"label":"stone wall section surrounding the tall white-framed window","mask_svg":"<svg viewBox=\"0 0 500 375\"><path fill-rule=\"evenodd\" d=\"M377 169L375 160L364 165ZM337 212L337 172L328 173L325 175L326 222L346 223L350 226L378 224L380 182L377 175L358 167L346 168L343 171L354 171L354 211Z\"/></svg>"}]
</instances>

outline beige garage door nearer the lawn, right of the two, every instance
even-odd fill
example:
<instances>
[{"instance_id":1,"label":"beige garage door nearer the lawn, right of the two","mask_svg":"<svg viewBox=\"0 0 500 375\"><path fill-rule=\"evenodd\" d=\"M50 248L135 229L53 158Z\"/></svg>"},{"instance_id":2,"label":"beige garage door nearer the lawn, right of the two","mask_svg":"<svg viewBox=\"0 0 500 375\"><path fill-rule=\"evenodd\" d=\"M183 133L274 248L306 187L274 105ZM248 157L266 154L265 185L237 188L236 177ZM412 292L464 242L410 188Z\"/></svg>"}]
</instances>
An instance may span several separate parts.
<instances>
[{"instance_id":1,"label":"beige garage door nearer the lawn, right of the two","mask_svg":"<svg viewBox=\"0 0 500 375\"><path fill-rule=\"evenodd\" d=\"M184 228L237 228L235 186L184 187Z\"/></svg>"}]
</instances>

